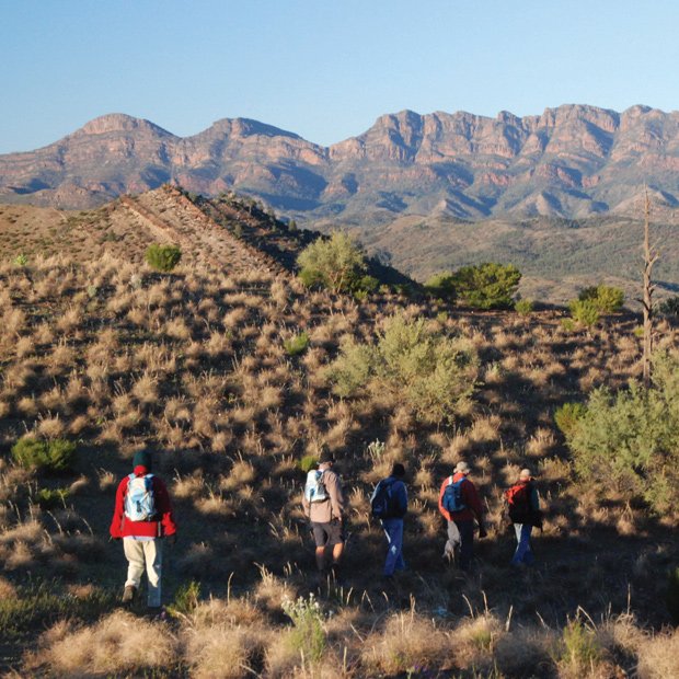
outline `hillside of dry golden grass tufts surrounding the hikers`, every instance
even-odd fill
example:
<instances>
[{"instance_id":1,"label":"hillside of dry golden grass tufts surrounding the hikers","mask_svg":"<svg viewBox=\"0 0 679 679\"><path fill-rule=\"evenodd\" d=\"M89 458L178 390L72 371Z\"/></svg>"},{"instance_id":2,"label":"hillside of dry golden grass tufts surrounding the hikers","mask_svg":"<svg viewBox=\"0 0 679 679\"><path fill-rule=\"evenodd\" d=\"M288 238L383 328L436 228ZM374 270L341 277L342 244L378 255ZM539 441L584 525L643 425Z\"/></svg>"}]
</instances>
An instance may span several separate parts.
<instances>
[{"instance_id":1,"label":"hillside of dry golden grass tufts surrounding the hikers","mask_svg":"<svg viewBox=\"0 0 679 679\"><path fill-rule=\"evenodd\" d=\"M679 676L664 605L677 517L578 480L553 419L592 388L638 376L637 320L566 332L559 310L310 292L288 271L297 237L242 206L203 207L174 189L91 212L0 206L7 676ZM171 274L143 263L153 242L182 248ZM343 338L372 341L393 314L474 347L477 384L453 421L418 418L390 390L334 395L326 366ZM295 355L286 343L302 332L309 346ZM660 325L658 343L677 347L677 331ZM74 441L73 469L15 465L22 437ZM315 574L300 505L300 460L322 445L348 498L336 579ZM108 542L117 482L141 446L179 522L162 620L122 607L126 563ZM436 506L462 458L490 533L469 575L441 560ZM407 469L408 568L384 583L368 498L393 461ZM500 500L527 465L545 522L538 564L516 571Z\"/></svg>"}]
</instances>

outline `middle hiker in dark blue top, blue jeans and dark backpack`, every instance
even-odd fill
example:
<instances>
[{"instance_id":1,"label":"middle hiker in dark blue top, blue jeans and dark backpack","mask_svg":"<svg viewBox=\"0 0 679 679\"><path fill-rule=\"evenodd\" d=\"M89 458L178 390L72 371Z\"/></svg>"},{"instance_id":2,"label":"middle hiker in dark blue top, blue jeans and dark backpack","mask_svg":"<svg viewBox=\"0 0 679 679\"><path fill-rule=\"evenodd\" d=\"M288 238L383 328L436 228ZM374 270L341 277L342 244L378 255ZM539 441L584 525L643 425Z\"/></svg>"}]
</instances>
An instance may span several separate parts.
<instances>
[{"instance_id":1,"label":"middle hiker in dark blue top, blue jeans and dark backpack","mask_svg":"<svg viewBox=\"0 0 679 679\"><path fill-rule=\"evenodd\" d=\"M382 522L387 536L387 559L384 560L384 577L393 577L394 571L403 571L403 517L407 511L407 490L403 479L405 468L395 462L391 474L382 479L372 493L370 506L372 516Z\"/></svg>"}]
</instances>

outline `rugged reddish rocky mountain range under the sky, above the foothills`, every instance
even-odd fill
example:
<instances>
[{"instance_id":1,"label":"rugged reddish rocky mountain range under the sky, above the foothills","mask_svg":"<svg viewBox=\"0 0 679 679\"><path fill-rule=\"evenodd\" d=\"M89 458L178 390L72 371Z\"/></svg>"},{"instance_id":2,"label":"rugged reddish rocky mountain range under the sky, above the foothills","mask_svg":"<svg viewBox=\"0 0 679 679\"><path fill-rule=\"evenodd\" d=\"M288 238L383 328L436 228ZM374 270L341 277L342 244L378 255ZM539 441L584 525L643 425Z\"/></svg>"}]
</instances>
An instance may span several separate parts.
<instances>
[{"instance_id":1,"label":"rugged reddish rocky mountain range under the sky, above the foothills","mask_svg":"<svg viewBox=\"0 0 679 679\"><path fill-rule=\"evenodd\" d=\"M638 214L645 185L679 204L679 112L586 105L495 118L459 112L383 115L330 147L250 119L181 138L105 115L35 151L0 156L0 202L82 208L165 182L237 191L302 220L465 220Z\"/></svg>"}]
</instances>

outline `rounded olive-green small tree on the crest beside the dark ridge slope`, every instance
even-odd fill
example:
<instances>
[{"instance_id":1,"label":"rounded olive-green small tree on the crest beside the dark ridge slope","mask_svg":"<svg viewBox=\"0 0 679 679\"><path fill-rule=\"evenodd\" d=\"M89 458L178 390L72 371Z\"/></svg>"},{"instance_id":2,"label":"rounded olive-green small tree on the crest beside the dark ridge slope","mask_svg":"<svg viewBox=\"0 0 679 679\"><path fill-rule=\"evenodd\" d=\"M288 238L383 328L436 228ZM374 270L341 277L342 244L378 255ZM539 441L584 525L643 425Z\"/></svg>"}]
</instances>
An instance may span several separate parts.
<instances>
[{"instance_id":1,"label":"rounded olive-green small tree on the crest beside the dark ridge slope","mask_svg":"<svg viewBox=\"0 0 679 679\"><path fill-rule=\"evenodd\" d=\"M306 285L318 283L333 292L355 289L367 268L360 246L341 231L333 231L330 238L318 239L304 248L297 264Z\"/></svg>"}]
</instances>

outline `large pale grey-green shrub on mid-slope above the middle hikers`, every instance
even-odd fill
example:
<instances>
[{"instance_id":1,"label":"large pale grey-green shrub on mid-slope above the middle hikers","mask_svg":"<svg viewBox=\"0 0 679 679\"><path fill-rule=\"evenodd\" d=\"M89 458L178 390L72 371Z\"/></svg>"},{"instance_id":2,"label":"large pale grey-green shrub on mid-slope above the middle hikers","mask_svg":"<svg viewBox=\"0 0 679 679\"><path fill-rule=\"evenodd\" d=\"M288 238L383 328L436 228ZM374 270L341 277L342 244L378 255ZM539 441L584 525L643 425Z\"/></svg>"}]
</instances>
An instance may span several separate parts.
<instances>
[{"instance_id":1,"label":"large pale grey-green shrub on mid-slope above the middle hikers","mask_svg":"<svg viewBox=\"0 0 679 679\"><path fill-rule=\"evenodd\" d=\"M428 422L463 410L476 375L476 355L467 340L431 331L426 319L402 315L387 320L376 345L345 340L327 370L337 395L389 390Z\"/></svg>"}]
</instances>

